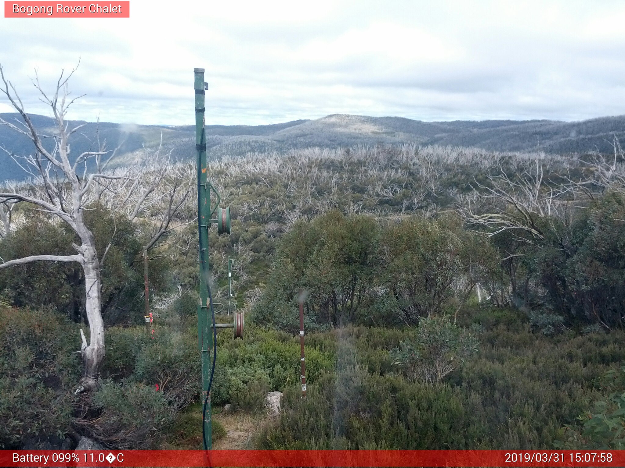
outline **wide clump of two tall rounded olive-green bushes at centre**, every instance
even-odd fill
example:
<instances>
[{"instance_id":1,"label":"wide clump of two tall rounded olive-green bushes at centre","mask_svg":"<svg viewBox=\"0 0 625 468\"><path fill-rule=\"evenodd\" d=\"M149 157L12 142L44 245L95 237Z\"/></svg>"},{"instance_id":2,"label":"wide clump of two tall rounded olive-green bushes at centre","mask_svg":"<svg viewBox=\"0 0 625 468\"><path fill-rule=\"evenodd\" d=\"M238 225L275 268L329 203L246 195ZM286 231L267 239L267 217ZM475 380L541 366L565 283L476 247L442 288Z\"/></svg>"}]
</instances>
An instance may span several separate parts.
<instances>
[{"instance_id":1,"label":"wide clump of two tall rounded olive-green bushes at centre","mask_svg":"<svg viewBox=\"0 0 625 468\"><path fill-rule=\"evenodd\" d=\"M496 252L456 217L379 223L336 210L298 222L282 236L256 323L296 333L297 295L307 291L306 330L348 323L416 324L459 312Z\"/></svg>"}]
</instances>

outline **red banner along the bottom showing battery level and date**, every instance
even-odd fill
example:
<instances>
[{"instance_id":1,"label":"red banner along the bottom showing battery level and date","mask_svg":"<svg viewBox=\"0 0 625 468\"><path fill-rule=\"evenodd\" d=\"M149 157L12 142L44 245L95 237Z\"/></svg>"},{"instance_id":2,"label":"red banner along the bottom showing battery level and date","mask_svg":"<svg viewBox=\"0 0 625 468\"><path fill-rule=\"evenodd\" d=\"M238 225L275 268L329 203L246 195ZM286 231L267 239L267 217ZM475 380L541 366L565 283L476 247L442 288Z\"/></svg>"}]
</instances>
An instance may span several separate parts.
<instances>
[{"instance_id":1,"label":"red banner along the bottom showing battery level and date","mask_svg":"<svg viewBox=\"0 0 625 468\"><path fill-rule=\"evenodd\" d=\"M623 467L625 451L0 451L3 467Z\"/></svg>"}]
</instances>

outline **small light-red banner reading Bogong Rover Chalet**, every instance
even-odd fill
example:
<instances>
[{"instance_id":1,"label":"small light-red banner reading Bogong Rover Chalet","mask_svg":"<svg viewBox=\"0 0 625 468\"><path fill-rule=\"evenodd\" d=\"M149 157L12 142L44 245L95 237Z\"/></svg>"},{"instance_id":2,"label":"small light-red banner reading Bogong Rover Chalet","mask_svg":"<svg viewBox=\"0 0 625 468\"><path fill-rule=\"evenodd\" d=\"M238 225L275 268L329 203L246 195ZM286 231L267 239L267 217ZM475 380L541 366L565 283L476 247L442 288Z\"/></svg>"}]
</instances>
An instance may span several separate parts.
<instances>
[{"instance_id":1,"label":"small light-red banner reading Bogong Rover Chalet","mask_svg":"<svg viewBox=\"0 0 625 468\"><path fill-rule=\"evenodd\" d=\"M129 18L130 2L4 1L5 18Z\"/></svg>"}]
</instances>

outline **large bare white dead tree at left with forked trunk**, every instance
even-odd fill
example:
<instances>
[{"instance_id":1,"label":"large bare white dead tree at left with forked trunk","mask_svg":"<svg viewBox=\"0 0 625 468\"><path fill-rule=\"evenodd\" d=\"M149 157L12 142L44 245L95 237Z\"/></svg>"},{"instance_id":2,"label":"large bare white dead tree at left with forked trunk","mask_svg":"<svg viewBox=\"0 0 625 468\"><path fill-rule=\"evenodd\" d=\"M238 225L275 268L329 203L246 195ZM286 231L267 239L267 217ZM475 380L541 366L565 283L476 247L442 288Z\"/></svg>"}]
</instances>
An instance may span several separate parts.
<instances>
[{"instance_id":1,"label":"large bare white dead tree at left with forked trunk","mask_svg":"<svg viewBox=\"0 0 625 468\"><path fill-rule=\"evenodd\" d=\"M86 314L89 321L90 341L87 342L81 329L81 353L83 356L83 379L77 392L94 388L98 377L99 364L104 358L104 322L101 315L101 280L98 252L96 251L96 241L93 233L84 222L85 201L84 195L89 191L89 185L98 178L107 177L104 174L92 174L82 180L76 175L81 162L96 154L104 154L103 148L96 151L84 152L72 163L69 159L69 137L77 132L83 125L78 125L72 129L65 122L65 115L68 107L74 102L69 100L68 80L73 75L74 69L63 78L64 73L56 84L56 90L50 97L44 92L36 81L36 88L41 92L43 101L49 105L54 114L55 132L53 135L42 135L31 122L30 117L24 110L24 104L16 92L16 88L6 77L0 66L0 76L2 78L2 92L8 97L11 105L21 115L23 122L7 122L0 119L0 123L7 125L12 130L28 137L34 145L34 154L20 156L20 164L26 172L37 177L41 181L42 193L34 196L26 193L0 192L0 202L17 203L26 202L35 205L38 210L55 215L61 218L72 228L80 239L80 245L73 244L75 255L32 255L24 258L4 261L0 263L0 268L8 268L13 265L23 265L33 261L62 261L78 262L83 267L86 293ZM19 125L19 126L18 126ZM42 138L51 137L54 140L54 148L47 150ZM6 150L6 149L5 149ZM12 157L16 157L11 152ZM39 195L39 196L37 196Z\"/></svg>"}]
</instances>

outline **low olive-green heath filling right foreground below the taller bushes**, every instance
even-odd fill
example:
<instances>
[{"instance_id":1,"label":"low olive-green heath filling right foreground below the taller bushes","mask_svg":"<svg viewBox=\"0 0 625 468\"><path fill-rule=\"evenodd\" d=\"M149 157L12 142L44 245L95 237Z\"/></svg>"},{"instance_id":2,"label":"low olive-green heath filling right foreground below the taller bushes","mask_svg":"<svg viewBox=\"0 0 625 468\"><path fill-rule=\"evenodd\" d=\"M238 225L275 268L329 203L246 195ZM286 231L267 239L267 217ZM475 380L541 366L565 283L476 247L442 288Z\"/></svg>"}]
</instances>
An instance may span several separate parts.
<instances>
[{"instance_id":1,"label":"low olive-green heath filling right foreground below the taller bushes","mask_svg":"<svg viewBox=\"0 0 625 468\"><path fill-rule=\"evenodd\" d=\"M297 386L284 389L284 412L259 432L256 447L552 449L563 440L562 424L574 424L600 396L592 382L625 361L624 334L548 337L532 333L523 314L495 316L479 351L435 384L412 383L378 359L414 340L414 329L307 335L336 364L309 384L306 400Z\"/></svg>"}]
</instances>

